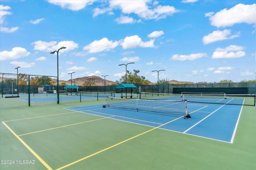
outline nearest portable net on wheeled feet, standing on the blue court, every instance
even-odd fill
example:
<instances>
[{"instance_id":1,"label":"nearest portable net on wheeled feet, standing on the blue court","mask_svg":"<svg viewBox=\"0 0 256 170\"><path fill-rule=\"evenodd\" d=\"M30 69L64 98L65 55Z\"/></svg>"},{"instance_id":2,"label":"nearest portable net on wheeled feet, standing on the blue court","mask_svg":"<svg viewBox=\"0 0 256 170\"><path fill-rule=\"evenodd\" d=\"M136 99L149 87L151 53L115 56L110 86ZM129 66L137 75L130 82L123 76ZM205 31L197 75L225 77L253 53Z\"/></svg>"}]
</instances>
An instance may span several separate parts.
<instances>
[{"instance_id":1,"label":"nearest portable net on wheeled feet, standing on the blue court","mask_svg":"<svg viewBox=\"0 0 256 170\"><path fill-rule=\"evenodd\" d=\"M151 113L181 115L189 118L186 100L141 100L106 97L103 107L114 107Z\"/></svg>"}]
</instances>

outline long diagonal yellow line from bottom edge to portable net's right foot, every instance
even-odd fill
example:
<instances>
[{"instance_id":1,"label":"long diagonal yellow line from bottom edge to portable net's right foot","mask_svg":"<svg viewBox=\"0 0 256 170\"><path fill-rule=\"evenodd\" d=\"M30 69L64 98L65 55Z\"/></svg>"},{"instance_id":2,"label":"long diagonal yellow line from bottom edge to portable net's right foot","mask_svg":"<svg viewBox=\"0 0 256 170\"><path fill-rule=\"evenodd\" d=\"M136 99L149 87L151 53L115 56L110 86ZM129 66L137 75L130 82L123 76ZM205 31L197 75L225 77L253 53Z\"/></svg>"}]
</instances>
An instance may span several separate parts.
<instances>
[{"instance_id":1,"label":"long diagonal yellow line from bottom edge to portable net's right foot","mask_svg":"<svg viewBox=\"0 0 256 170\"><path fill-rule=\"evenodd\" d=\"M148 132L150 132L150 131L153 131L153 130L155 130L155 129L161 128L162 126L164 126L164 125L166 125L166 124L169 124L169 123L171 123L171 122L174 122L174 121L178 120L178 119L181 118L181 117L184 117L184 116L180 116L180 117L178 117L178 118L175 118L175 119L172 120L172 121L169 121L169 122L167 122L167 123L164 123L164 124L162 124L162 125L159 125L159 126L157 126L156 128L153 128L153 129L150 129L150 130L148 130L148 131L146 131L146 132L142 132L142 133L140 133L140 134L137 134L137 135L135 135L134 137L131 137L131 138L126 139L126 140L124 140L124 141L122 141L122 142L116 143L116 144L113 145L113 146L110 146L110 147L108 147L108 148L102 149L102 150L100 150L100 151L98 151L98 152L95 152L94 154L91 154L91 155L86 156L86 157L84 157L84 158L78 159L78 160L76 160L75 162L70 163L70 164L67 164L67 165L65 165L65 166L62 166L62 167L60 167L60 168L58 168L58 169L56 169L56 170L60 170L60 169L66 168L66 167L68 167L68 166L70 166L70 165L74 165L74 164L76 164L76 163L78 163L78 162L81 162L82 160L85 160L85 159L87 159L87 158L90 158L90 157L92 157L92 156L95 156L95 155L97 155L97 154L100 154L100 153L103 152L103 151L106 151L106 150L108 150L108 149L114 148L114 147L116 147L116 146L118 146L118 145L121 145L122 143L125 143L125 142L127 142L127 141L130 141L130 140L132 140L132 139L134 139L134 138L137 138L137 137L139 137L139 136L141 136L141 135L143 135L143 134L146 134L146 133L148 133Z\"/></svg>"}]
</instances>

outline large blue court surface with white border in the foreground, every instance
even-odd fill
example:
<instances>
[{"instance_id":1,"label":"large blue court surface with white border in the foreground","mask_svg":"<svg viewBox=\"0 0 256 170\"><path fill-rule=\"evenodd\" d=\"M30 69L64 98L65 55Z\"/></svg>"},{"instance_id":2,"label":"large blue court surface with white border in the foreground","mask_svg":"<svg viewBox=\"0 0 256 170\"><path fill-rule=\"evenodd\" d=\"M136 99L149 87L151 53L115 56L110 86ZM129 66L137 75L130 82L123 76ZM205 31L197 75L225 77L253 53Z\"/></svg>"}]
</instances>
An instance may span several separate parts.
<instances>
[{"instance_id":1,"label":"large blue court surface with white border in the foreground","mask_svg":"<svg viewBox=\"0 0 256 170\"><path fill-rule=\"evenodd\" d=\"M126 106L136 105L136 100L127 101ZM161 102L161 101L160 101ZM143 107L154 108L156 111L172 111L174 114L137 111L116 107L103 108L102 105L79 106L66 108L85 114L108 117L114 120L157 127L163 130L174 131L183 134L195 135L197 137L233 143L239 117L242 111L241 105L226 104L202 104L187 103L188 113L191 118L183 118L180 111L174 106L176 103L170 101L168 105L159 105L159 101L148 100ZM173 103L172 103L173 102ZM138 103L137 103L138 105ZM170 122L170 123L168 123ZM164 124L164 125L163 125Z\"/></svg>"}]
</instances>

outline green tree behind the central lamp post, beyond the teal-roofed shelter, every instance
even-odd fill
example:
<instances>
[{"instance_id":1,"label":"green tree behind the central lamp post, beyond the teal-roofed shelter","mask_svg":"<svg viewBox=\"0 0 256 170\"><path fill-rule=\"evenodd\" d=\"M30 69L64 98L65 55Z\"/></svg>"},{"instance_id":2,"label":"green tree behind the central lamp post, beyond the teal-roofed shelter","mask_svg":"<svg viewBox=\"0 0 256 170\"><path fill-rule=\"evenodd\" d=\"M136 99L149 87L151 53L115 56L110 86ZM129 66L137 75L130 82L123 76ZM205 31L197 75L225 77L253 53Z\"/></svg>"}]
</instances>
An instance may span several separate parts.
<instances>
[{"instance_id":1,"label":"green tree behind the central lamp post, beyond the teal-roofed shelter","mask_svg":"<svg viewBox=\"0 0 256 170\"><path fill-rule=\"evenodd\" d=\"M127 70L127 83L133 83L136 85L149 84L149 81L142 75L138 75L140 73L139 70L133 70L133 73ZM125 75L123 75L120 79L121 83L125 83Z\"/></svg>"}]
</instances>

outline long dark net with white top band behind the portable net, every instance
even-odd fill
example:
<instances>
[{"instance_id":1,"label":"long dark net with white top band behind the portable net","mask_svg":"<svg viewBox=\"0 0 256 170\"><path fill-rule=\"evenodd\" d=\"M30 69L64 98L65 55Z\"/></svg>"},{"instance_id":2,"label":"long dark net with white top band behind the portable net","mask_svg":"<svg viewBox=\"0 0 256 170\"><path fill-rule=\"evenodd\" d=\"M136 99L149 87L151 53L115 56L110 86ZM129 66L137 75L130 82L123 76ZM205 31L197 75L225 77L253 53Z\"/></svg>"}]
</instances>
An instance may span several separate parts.
<instances>
[{"instance_id":1,"label":"long dark net with white top band behind the portable net","mask_svg":"<svg viewBox=\"0 0 256 170\"><path fill-rule=\"evenodd\" d=\"M187 100L194 103L227 104L255 106L255 94L227 95L227 94L159 94L141 92L140 99L150 100Z\"/></svg>"}]
</instances>

